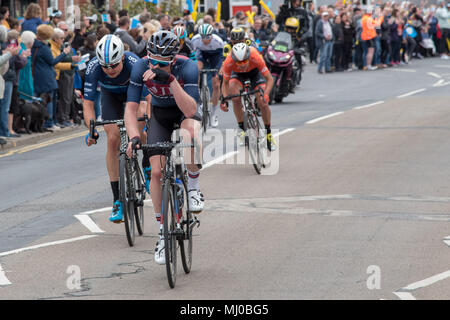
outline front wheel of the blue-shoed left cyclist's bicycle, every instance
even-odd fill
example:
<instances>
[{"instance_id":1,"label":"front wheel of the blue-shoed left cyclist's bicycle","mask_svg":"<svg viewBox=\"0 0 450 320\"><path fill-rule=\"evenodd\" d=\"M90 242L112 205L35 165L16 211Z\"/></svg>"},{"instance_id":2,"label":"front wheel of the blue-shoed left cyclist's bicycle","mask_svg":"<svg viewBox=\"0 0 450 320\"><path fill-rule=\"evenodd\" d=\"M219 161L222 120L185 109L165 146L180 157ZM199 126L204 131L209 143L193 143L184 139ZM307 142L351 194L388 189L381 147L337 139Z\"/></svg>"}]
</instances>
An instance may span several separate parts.
<instances>
[{"instance_id":1,"label":"front wheel of the blue-shoed left cyclist's bicycle","mask_svg":"<svg viewBox=\"0 0 450 320\"><path fill-rule=\"evenodd\" d=\"M125 154L119 159L119 201L122 203L123 218L125 220L125 233L130 247L134 245L134 201L130 196L130 186L132 183L129 172L128 160Z\"/></svg>"}]
</instances>

